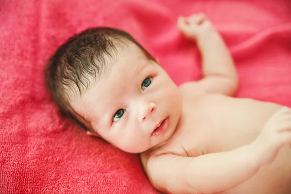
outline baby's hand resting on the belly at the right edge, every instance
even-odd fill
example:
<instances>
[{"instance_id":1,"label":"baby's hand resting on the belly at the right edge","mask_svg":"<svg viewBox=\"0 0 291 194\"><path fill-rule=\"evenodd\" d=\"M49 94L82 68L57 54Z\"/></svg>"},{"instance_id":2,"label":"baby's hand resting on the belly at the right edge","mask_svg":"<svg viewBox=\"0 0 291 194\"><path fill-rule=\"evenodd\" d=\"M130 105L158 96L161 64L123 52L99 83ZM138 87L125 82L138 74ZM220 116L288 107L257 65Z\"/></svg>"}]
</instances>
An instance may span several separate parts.
<instances>
[{"instance_id":1,"label":"baby's hand resting on the belly at the right edge","mask_svg":"<svg viewBox=\"0 0 291 194\"><path fill-rule=\"evenodd\" d=\"M273 162L278 150L286 144L291 145L291 109L288 107L277 111L253 142L260 165Z\"/></svg>"}]
</instances>

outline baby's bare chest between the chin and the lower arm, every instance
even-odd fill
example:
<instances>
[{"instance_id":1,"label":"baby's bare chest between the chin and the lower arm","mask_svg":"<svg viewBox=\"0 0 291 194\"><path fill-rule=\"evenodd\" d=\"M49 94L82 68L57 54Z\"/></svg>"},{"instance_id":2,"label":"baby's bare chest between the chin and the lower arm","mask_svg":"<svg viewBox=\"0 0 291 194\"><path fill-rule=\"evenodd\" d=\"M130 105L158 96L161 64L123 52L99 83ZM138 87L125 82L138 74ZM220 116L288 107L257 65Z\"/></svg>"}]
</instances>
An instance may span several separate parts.
<instances>
[{"instance_id":1,"label":"baby's bare chest between the chin and the lower arm","mask_svg":"<svg viewBox=\"0 0 291 194\"><path fill-rule=\"evenodd\" d=\"M246 145L259 135L273 110L271 105L247 99L190 101L183 108L172 144L192 157Z\"/></svg>"}]
</instances>

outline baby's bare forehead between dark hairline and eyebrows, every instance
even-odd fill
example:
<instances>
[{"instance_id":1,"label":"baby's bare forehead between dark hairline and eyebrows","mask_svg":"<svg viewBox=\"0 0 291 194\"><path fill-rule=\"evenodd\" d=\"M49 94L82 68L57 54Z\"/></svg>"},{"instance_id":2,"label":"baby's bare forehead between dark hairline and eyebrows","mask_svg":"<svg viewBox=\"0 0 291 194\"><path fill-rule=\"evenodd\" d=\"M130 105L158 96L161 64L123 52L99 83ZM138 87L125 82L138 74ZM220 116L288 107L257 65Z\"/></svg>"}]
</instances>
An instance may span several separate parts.
<instances>
[{"instance_id":1,"label":"baby's bare forehead between dark hairline and eyebrows","mask_svg":"<svg viewBox=\"0 0 291 194\"><path fill-rule=\"evenodd\" d=\"M102 116L100 113L105 111L103 109L111 108L118 97L124 95L123 89L138 77L149 62L143 51L133 43L121 48L113 63L107 64L104 72L91 80L81 96L73 95L72 106L86 120L95 120Z\"/></svg>"}]
</instances>

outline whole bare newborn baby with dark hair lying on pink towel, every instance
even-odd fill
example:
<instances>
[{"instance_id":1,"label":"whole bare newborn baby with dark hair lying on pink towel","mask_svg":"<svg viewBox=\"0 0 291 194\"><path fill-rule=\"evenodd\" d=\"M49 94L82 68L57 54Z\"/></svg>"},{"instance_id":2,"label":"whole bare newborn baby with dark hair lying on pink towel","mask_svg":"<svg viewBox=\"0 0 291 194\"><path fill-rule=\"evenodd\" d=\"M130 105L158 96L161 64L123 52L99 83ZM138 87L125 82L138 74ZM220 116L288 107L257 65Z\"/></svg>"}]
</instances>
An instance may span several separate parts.
<instances>
[{"instance_id":1,"label":"whole bare newborn baby with dark hair lying on pink towel","mask_svg":"<svg viewBox=\"0 0 291 194\"><path fill-rule=\"evenodd\" d=\"M127 32L89 29L50 58L46 79L67 116L140 153L152 185L173 194L290 194L291 109L231 97L238 76L203 14L178 18L202 56L200 81L177 86Z\"/></svg>"}]
</instances>

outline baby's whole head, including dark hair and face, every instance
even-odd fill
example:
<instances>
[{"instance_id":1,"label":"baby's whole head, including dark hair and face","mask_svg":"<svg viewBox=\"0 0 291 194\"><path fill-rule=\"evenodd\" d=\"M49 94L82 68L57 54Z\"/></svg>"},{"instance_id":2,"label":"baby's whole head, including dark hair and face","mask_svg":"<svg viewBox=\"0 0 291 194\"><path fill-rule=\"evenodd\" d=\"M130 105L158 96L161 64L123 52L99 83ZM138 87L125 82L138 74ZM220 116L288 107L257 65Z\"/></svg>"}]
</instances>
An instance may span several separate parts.
<instances>
[{"instance_id":1,"label":"baby's whole head, including dark hair and face","mask_svg":"<svg viewBox=\"0 0 291 194\"><path fill-rule=\"evenodd\" d=\"M127 32L95 28L74 35L45 74L65 115L126 152L162 145L178 124L177 85Z\"/></svg>"}]
</instances>

